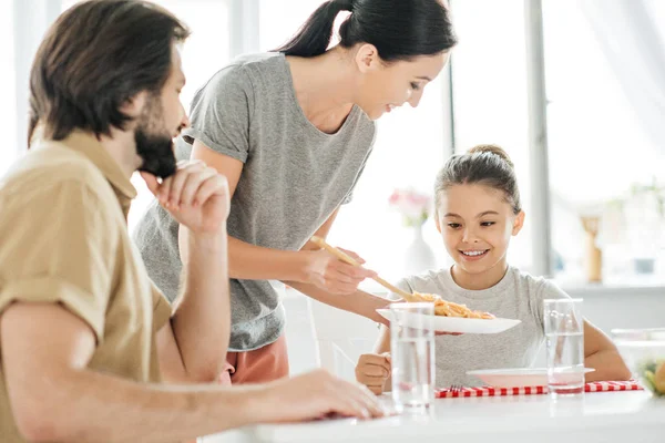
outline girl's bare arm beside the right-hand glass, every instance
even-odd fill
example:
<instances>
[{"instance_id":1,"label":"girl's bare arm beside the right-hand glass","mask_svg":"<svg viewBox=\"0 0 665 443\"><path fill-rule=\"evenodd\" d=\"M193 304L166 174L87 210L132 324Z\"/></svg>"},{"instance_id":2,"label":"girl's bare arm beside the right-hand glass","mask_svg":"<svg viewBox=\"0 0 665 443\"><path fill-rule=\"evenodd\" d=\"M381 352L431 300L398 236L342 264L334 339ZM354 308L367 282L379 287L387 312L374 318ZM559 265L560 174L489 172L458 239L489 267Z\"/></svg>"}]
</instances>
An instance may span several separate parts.
<instances>
[{"instance_id":1,"label":"girl's bare arm beside the right-hand glass","mask_svg":"<svg viewBox=\"0 0 665 443\"><path fill-rule=\"evenodd\" d=\"M607 336L584 320L584 365L595 369L586 381L630 380L631 371Z\"/></svg>"}]
</instances>

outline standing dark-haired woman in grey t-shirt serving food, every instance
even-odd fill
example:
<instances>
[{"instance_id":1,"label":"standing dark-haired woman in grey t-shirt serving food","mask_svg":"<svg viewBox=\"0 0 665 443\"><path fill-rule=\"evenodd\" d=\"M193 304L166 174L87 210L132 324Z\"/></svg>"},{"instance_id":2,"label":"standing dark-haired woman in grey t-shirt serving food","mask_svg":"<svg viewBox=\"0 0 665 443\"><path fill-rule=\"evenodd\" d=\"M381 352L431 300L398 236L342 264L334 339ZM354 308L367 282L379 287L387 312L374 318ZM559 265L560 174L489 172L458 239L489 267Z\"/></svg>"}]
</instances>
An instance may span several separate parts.
<instances>
[{"instance_id":1,"label":"standing dark-haired woman in grey t-shirt serving food","mask_svg":"<svg viewBox=\"0 0 665 443\"><path fill-rule=\"evenodd\" d=\"M340 11L350 14L340 43L327 50ZM229 296L232 307L227 381L288 373L285 318L270 280L380 321L376 309L386 301L357 289L372 274L308 239L326 237L350 200L372 148L374 121L395 106L417 106L454 44L440 0L328 1L279 50L235 60L196 93L176 155L215 167L233 195L229 292L218 295ZM135 237L151 277L175 299L181 260L196 245L157 204Z\"/></svg>"}]
</instances>

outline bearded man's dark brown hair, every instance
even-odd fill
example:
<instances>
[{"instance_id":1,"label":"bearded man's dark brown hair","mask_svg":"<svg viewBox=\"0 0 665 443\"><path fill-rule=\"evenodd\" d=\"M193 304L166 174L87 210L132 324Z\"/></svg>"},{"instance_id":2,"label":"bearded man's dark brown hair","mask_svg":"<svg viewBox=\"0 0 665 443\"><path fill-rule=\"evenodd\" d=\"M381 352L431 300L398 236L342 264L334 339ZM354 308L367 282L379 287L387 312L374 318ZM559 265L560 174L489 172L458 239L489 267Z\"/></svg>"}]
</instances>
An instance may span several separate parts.
<instances>
[{"instance_id":1,"label":"bearded man's dark brown hair","mask_svg":"<svg viewBox=\"0 0 665 443\"><path fill-rule=\"evenodd\" d=\"M172 48L190 34L165 9L135 0L93 0L70 8L49 29L30 72L28 144L38 122L49 137L74 128L109 135L132 120L120 107L158 92Z\"/></svg>"}]
</instances>

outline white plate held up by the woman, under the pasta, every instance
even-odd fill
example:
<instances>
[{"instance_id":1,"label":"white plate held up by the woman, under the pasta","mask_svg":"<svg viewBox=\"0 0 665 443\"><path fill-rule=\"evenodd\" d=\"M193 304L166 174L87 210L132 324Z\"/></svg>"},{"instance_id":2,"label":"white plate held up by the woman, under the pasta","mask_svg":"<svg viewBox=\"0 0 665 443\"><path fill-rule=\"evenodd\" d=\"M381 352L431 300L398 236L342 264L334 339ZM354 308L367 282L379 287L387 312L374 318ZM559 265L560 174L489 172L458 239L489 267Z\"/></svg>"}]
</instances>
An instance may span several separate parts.
<instances>
[{"instance_id":1,"label":"white plate held up by the woman, under the pasta","mask_svg":"<svg viewBox=\"0 0 665 443\"><path fill-rule=\"evenodd\" d=\"M377 309L377 312L385 319L392 320L392 311L390 309ZM460 333L499 333L520 323L520 320L511 319L467 319L459 317L433 317L431 320L424 320L422 313L410 313L407 317L407 326L411 328L422 328L429 321L433 322L434 331L438 332L460 332Z\"/></svg>"}]
</instances>

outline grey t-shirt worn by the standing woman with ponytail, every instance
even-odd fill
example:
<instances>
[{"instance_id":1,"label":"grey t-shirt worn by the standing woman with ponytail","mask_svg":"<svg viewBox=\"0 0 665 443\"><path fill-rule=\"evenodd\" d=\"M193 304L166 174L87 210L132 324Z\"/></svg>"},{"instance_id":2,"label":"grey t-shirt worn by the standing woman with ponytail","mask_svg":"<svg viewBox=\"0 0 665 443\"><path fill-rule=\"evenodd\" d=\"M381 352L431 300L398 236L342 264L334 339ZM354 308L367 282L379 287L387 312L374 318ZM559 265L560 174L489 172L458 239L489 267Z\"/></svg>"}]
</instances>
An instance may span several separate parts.
<instances>
[{"instance_id":1,"label":"grey t-shirt worn by the standing woman with ponytail","mask_svg":"<svg viewBox=\"0 0 665 443\"><path fill-rule=\"evenodd\" d=\"M192 126L176 141L190 158L194 140L244 163L232 198L228 234L266 248L297 250L347 203L375 140L375 123L354 106L336 134L303 113L283 54L245 55L222 69L192 102ZM177 224L156 202L134 234L151 278L174 300L182 262ZM231 280L229 349L277 340L285 315L269 281Z\"/></svg>"}]
</instances>

